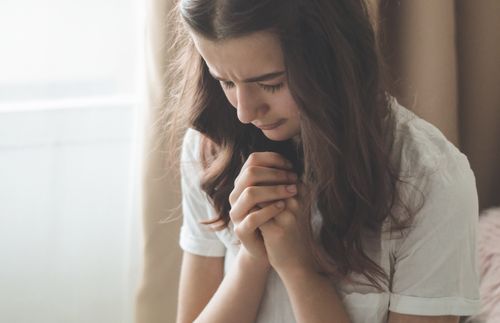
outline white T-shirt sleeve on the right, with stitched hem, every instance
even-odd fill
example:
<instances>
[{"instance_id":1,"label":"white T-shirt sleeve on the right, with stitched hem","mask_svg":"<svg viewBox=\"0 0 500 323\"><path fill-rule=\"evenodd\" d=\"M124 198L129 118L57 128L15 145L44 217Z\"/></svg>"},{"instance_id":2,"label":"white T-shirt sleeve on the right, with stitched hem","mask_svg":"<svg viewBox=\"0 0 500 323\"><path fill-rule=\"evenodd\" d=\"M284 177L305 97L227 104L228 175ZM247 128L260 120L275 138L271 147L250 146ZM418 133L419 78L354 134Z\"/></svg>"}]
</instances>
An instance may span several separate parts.
<instances>
[{"instance_id":1,"label":"white T-shirt sleeve on the right, with stitched hem","mask_svg":"<svg viewBox=\"0 0 500 323\"><path fill-rule=\"evenodd\" d=\"M462 316L479 311L475 177L463 154L441 166L422 186L424 204L408 234L394 242L392 312Z\"/></svg>"}]
</instances>

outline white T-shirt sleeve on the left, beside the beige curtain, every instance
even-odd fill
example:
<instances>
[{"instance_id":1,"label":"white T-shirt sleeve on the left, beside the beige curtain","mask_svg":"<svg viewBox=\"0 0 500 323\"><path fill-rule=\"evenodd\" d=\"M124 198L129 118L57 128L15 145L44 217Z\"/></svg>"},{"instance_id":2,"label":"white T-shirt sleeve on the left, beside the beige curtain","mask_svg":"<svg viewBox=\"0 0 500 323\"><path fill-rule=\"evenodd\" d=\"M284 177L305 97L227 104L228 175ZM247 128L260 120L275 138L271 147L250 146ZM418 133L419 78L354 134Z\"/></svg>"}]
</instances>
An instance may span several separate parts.
<instances>
[{"instance_id":1,"label":"white T-shirt sleeve on the left, beside the beige curtain","mask_svg":"<svg viewBox=\"0 0 500 323\"><path fill-rule=\"evenodd\" d=\"M200 187L199 145L199 133L188 129L182 143L180 163L183 222L179 245L184 251L196 255L224 257L225 246L217 234L207 225L199 223L209 219L211 208Z\"/></svg>"}]
</instances>

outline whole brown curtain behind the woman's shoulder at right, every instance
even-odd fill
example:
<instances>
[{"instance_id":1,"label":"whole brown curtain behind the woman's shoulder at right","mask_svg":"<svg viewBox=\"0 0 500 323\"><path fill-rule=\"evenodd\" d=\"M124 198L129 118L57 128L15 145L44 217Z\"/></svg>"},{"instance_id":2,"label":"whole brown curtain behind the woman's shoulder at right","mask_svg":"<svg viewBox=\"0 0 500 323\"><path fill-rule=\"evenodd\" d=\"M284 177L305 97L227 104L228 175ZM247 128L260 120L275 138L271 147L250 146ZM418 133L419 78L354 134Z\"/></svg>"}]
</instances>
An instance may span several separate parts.
<instances>
[{"instance_id":1,"label":"whole brown curtain behind the woman's shoulder at right","mask_svg":"<svg viewBox=\"0 0 500 323\"><path fill-rule=\"evenodd\" d=\"M378 8L392 93L467 155L480 208L499 205L500 1L380 0Z\"/></svg>"}]
</instances>

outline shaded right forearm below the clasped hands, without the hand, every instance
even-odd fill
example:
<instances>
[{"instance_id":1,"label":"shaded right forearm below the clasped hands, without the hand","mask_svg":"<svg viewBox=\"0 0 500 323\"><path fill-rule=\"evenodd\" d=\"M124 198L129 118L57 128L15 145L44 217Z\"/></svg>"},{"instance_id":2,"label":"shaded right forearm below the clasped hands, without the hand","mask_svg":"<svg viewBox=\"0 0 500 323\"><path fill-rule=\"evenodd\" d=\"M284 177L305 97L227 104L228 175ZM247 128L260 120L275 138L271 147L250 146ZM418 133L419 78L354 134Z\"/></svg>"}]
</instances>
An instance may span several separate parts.
<instances>
[{"instance_id":1,"label":"shaded right forearm below the clasped hands, without the hand","mask_svg":"<svg viewBox=\"0 0 500 323\"><path fill-rule=\"evenodd\" d=\"M296 271L280 274L298 323L347 323L349 317L331 282L317 274Z\"/></svg>"}]
</instances>

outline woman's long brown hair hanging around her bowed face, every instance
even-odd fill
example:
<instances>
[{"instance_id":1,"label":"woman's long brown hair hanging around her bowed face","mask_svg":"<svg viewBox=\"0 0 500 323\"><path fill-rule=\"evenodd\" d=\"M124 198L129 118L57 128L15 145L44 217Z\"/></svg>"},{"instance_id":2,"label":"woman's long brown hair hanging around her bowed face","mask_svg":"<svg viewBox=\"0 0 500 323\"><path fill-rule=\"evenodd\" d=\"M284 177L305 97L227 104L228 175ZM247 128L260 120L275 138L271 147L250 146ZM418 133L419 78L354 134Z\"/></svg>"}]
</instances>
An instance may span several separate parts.
<instances>
[{"instance_id":1,"label":"woman's long brown hair hanging around her bowed face","mask_svg":"<svg viewBox=\"0 0 500 323\"><path fill-rule=\"evenodd\" d=\"M218 214L206 224L227 227L228 197L248 156L278 152L294 164L307 187L303 209L320 211L317 239L310 211L304 223L321 272L336 279L360 273L382 288L388 273L367 256L363 238L380 237L387 217L393 228L404 228L411 212L406 207L406 217L392 212L401 200L397 184L403 181L399 165L389 158L394 118L364 1L181 0L173 17L177 58L169 74L174 90L168 113L174 116L168 117L177 123L170 120L168 131L187 125L202 134L201 188ZM298 145L271 141L239 122L188 30L214 41L258 31L278 36L301 115Z\"/></svg>"}]
</instances>

